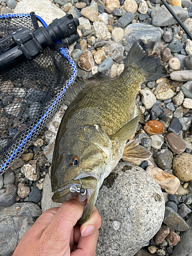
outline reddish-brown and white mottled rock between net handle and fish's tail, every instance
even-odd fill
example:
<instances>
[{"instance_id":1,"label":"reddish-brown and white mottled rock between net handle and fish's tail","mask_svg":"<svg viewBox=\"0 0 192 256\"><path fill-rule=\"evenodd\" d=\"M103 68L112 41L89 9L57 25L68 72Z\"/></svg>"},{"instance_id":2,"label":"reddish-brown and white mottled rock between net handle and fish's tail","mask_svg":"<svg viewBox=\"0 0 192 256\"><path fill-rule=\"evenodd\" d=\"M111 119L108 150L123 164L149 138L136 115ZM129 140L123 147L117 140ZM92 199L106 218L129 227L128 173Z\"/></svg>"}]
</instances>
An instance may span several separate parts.
<instances>
[{"instance_id":1,"label":"reddish-brown and white mottled rock between net handle and fish's tail","mask_svg":"<svg viewBox=\"0 0 192 256\"><path fill-rule=\"evenodd\" d=\"M95 61L90 51L84 51L81 54L78 60L78 66L85 71L91 71L95 66Z\"/></svg>"}]
</instances>

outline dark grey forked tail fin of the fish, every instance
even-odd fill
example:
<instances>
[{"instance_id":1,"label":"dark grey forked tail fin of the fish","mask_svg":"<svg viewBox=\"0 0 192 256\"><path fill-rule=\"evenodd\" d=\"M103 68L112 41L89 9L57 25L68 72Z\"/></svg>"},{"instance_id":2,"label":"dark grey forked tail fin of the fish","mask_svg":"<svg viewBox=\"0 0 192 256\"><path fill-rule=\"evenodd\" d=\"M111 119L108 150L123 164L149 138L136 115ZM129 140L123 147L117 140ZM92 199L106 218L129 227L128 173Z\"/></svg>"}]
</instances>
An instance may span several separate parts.
<instances>
[{"instance_id":1,"label":"dark grey forked tail fin of the fish","mask_svg":"<svg viewBox=\"0 0 192 256\"><path fill-rule=\"evenodd\" d=\"M166 69L161 65L160 59L149 57L141 40L133 44L125 59L125 68L129 66L140 68L147 82L167 76Z\"/></svg>"}]
</instances>

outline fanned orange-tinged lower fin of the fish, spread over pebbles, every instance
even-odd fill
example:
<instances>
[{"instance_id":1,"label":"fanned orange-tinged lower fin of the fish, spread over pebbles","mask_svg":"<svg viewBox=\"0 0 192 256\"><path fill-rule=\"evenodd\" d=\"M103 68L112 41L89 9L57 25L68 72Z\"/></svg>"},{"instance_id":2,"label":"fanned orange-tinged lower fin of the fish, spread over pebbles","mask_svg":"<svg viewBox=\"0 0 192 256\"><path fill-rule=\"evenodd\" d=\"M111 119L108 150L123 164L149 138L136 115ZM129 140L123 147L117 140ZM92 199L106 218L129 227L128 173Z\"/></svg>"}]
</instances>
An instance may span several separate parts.
<instances>
[{"instance_id":1,"label":"fanned orange-tinged lower fin of the fish, spread over pebbles","mask_svg":"<svg viewBox=\"0 0 192 256\"><path fill-rule=\"evenodd\" d=\"M144 146L140 146L136 140L131 140L126 143L123 151L123 157L135 159L135 160L147 160L152 156L152 153Z\"/></svg>"}]
</instances>

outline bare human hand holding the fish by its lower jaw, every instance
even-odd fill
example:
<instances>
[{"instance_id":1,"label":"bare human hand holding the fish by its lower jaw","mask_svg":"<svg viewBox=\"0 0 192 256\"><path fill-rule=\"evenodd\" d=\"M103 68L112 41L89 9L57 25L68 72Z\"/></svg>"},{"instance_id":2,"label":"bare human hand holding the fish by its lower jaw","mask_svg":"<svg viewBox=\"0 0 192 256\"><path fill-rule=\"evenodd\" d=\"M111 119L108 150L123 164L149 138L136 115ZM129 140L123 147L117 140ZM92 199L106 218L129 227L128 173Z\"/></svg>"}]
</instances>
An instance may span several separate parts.
<instances>
[{"instance_id":1,"label":"bare human hand holding the fish by its lower jaw","mask_svg":"<svg viewBox=\"0 0 192 256\"><path fill-rule=\"evenodd\" d=\"M20 240L13 256L95 256L101 217L94 207L87 222L76 224L83 209L71 199L46 210Z\"/></svg>"}]
</instances>

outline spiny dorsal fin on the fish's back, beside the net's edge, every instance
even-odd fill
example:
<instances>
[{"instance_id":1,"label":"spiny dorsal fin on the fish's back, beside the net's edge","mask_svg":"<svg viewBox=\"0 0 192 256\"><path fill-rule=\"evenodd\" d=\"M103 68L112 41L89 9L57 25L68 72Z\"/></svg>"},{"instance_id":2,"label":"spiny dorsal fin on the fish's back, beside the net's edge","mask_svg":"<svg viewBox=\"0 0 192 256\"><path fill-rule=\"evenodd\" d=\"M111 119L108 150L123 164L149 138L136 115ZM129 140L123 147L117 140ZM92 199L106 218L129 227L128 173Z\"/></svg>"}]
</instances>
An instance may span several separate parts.
<instances>
[{"instance_id":1,"label":"spiny dorsal fin on the fish's back, beside the net's edge","mask_svg":"<svg viewBox=\"0 0 192 256\"><path fill-rule=\"evenodd\" d=\"M86 87L84 79L82 77L77 77L75 82L69 86L69 88L66 88L66 92L63 96L63 102L69 106L84 87Z\"/></svg>"}]
</instances>

